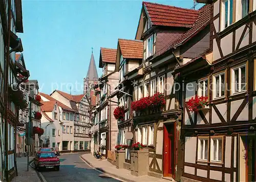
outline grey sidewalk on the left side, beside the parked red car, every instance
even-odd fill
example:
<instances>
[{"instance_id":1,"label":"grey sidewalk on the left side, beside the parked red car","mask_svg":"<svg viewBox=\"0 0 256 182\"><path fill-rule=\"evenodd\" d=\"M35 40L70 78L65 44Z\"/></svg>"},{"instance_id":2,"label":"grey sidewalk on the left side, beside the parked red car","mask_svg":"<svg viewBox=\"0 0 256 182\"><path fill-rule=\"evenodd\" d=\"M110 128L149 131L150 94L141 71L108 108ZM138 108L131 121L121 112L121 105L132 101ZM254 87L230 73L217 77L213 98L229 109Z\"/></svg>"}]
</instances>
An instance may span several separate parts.
<instances>
[{"instance_id":1,"label":"grey sidewalk on the left side, beside the parked red car","mask_svg":"<svg viewBox=\"0 0 256 182\"><path fill-rule=\"evenodd\" d=\"M36 171L29 166L27 171L27 157L17 157L18 176L12 179L12 182L41 182ZM33 160L33 157L29 157L29 161Z\"/></svg>"}]
</instances>

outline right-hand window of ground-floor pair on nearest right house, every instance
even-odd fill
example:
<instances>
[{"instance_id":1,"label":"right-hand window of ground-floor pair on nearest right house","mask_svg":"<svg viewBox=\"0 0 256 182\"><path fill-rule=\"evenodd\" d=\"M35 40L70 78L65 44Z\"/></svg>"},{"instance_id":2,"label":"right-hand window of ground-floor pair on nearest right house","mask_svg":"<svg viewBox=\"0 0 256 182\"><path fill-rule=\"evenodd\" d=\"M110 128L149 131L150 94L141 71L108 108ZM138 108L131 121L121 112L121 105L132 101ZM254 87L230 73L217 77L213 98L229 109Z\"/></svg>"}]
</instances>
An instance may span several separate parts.
<instances>
[{"instance_id":1,"label":"right-hand window of ground-floor pair on nearest right house","mask_svg":"<svg viewBox=\"0 0 256 182\"><path fill-rule=\"evenodd\" d=\"M213 138L211 139L211 161L221 162L222 161L222 139Z\"/></svg>"}]
</instances>

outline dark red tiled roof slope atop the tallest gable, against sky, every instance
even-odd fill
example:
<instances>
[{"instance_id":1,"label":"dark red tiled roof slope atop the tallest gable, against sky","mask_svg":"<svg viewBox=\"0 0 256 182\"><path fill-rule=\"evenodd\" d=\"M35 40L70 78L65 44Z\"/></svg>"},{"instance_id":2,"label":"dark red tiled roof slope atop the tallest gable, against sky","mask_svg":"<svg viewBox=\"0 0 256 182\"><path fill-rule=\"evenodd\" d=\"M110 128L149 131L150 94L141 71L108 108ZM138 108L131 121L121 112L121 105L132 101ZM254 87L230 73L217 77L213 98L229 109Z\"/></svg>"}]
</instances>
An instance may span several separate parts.
<instances>
[{"instance_id":1,"label":"dark red tiled roof slope atop the tallest gable, against sky","mask_svg":"<svg viewBox=\"0 0 256 182\"><path fill-rule=\"evenodd\" d=\"M169 27L192 27L197 20L198 10L143 2L153 25Z\"/></svg>"}]
</instances>

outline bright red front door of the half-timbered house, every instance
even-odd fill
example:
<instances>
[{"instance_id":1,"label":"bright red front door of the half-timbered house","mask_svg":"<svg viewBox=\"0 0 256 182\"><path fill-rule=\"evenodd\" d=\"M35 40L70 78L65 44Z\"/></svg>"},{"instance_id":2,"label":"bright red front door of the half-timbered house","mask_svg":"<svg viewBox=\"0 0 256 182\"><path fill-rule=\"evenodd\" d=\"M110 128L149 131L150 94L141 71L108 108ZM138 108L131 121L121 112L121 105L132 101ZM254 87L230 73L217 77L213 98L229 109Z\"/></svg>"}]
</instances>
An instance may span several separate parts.
<instances>
[{"instance_id":1,"label":"bright red front door of the half-timbered house","mask_svg":"<svg viewBox=\"0 0 256 182\"><path fill-rule=\"evenodd\" d=\"M164 124L163 127L163 176L175 179L176 163L176 123Z\"/></svg>"}]
</instances>

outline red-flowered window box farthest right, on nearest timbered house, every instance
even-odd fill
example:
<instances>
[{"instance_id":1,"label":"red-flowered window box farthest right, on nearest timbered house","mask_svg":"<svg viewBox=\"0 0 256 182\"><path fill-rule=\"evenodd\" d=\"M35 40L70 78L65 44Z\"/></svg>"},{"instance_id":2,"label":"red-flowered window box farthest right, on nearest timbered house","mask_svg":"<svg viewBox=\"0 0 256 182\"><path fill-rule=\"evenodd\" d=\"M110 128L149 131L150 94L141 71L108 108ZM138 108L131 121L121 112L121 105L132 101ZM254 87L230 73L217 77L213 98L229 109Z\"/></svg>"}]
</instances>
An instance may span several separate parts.
<instances>
[{"instance_id":1,"label":"red-flowered window box farthest right, on nearest timbered house","mask_svg":"<svg viewBox=\"0 0 256 182\"><path fill-rule=\"evenodd\" d=\"M196 96L195 98L192 97L188 102L187 102L187 107L190 111L198 112L201 109L204 109L206 104L208 102L207 97L198 97Z\"/></svg>"}]
</instances>

